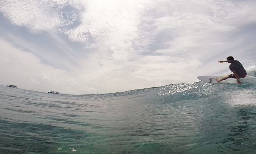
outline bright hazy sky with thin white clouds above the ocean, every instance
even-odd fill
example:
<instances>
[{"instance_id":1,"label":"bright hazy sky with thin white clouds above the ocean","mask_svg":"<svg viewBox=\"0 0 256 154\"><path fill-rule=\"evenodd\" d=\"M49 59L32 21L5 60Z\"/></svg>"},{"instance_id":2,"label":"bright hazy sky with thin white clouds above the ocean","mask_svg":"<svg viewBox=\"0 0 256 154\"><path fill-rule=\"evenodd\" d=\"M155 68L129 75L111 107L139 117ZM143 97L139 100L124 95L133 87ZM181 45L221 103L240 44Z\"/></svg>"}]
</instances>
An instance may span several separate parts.
<instances>
[{"instance_id":1,"label":"bright hazy sky with thin white clouds above the ocean","mask_svg":"<svg viewBox=\"0 0 256 154\"><path fill-rule=\"evenodd\" d=\"M104 94L256 59L255 0L0 0L0 85Z\"/></svg>"}]
</instances>

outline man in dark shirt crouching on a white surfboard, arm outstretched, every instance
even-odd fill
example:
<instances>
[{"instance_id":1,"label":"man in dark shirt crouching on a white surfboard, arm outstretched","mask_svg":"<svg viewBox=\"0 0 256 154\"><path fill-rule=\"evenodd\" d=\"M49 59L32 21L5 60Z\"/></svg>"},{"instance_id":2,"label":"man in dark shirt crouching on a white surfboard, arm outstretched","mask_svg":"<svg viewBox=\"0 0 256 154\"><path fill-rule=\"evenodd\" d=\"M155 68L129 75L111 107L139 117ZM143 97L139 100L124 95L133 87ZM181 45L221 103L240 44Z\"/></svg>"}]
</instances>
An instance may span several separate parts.
<instances>
[{"instance_id":1,"label":"man in dark shirt crouching on a white surfboard, arm outstretched","mask_svg":"<svg viewBox=\"0 0 256 154\"><path fill-rule=\"evenodd\" d=\"M220 79L216 78L217 82L226 80L227 78L236 78L238 84L242 84L239 78L244 78L246 77L247 73L245 69L243 68L243 65L238 61L234 60L232 56L228 56L227 60L218 60L218 62L223 63L223 62L228 62L231 63L229 65L229 69L233 74L230 74L229 76L222 77Z\"/></svg>"}]
</instances>

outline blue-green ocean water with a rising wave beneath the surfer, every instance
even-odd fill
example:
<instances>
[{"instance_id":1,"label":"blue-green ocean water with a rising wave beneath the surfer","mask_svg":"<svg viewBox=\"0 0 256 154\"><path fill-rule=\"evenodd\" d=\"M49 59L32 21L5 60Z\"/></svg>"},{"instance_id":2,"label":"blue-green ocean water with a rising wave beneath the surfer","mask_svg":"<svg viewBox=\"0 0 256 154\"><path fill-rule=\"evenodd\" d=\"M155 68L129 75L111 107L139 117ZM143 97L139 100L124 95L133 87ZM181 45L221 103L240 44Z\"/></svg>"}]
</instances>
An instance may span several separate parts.
<instances>
[{"instance_id":1,"label":"blue-green ocean water with a rising wave beneath the surfer","mask_svg":"<svg viewBox=\"0 0 256 154\"><path fill-rule=\"evenodd\" d=\"M0 154L254 154L256 69L112 94L0 86Z\"/></svg>"}]
</instances>

